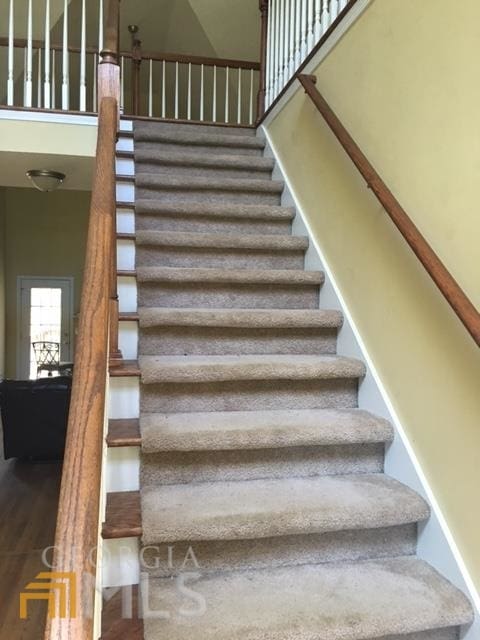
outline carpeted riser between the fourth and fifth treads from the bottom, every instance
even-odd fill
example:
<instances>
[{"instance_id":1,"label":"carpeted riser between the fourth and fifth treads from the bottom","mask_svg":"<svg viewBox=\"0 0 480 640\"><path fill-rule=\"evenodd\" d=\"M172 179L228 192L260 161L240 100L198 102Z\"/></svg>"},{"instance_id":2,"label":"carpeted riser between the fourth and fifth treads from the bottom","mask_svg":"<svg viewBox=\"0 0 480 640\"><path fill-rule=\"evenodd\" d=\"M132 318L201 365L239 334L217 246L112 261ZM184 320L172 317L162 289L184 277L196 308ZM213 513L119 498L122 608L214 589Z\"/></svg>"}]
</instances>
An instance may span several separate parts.
<instances>
[{"instance_id":1,"label":"carpeted riser between the fourth and fifth treads from the bottom","mask_svg":"<svg viewBox=\"0 0 480 640\"><path fill-rule=\"evenodd\" d=\"M335 354L337 329L154 327L140 332L140 355Z\"/></svg>"}]
</instances>

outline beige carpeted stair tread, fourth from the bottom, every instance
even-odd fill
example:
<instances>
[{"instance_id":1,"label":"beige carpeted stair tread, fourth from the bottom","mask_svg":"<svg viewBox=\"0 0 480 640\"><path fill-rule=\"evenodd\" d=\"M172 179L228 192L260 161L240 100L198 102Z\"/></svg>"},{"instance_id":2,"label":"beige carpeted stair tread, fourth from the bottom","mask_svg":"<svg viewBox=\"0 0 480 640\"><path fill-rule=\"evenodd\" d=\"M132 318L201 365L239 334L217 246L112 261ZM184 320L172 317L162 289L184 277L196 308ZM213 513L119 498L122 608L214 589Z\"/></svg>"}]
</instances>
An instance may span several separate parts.
<instances>
[{"instance_id":1,"label":"beige carpeted stair tread, fourth from the bottom","mask_svg":"<svg viewBox=\"0 0 480 640\"><path fill-rule=\"evenodd\" d=\"M350 379L365 375L362 361L341 356L140 356L138 361L144 384Z\"/></svg>"}]
</instances>

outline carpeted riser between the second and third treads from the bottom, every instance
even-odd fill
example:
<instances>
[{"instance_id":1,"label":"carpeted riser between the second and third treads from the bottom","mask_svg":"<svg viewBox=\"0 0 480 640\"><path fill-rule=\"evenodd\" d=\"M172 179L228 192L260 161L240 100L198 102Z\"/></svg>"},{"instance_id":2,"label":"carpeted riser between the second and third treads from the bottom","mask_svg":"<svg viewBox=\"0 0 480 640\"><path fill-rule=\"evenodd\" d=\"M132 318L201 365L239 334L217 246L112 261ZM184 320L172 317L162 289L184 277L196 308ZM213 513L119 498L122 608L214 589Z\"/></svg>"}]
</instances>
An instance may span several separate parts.
<instances>
[{"instance_id":1,"label":"carpeted riser between the second and third treads from the bottom","mask_svg":"<svg viewBox=\"0 0 480 640\"><path fill-rule=\"evenodd\" d=\"M142 455L142 487L260 478L381 473L383 444Z\"/></svg>"}]
</instances>

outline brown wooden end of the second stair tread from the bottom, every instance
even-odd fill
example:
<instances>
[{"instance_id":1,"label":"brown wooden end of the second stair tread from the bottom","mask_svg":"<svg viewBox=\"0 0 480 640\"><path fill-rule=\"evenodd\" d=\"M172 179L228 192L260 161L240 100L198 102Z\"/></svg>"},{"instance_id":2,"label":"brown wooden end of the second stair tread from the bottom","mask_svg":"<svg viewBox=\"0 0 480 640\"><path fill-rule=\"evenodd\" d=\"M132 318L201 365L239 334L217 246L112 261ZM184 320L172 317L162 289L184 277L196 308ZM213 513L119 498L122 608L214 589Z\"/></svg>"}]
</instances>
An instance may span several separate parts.
<instances>
[{"instance_id":1,"label":"brown wooden end of the second stair tread from the bottom","mask_svg":"<svg viewBox=\"0 0 480 640\"><path fill-rule=\"evenodd\" d=\"M107 493L102 538L139 538L142 535L142 515L139 491ZM63 640L63 639L62 639Z\"/></svg>"}]
</instances>

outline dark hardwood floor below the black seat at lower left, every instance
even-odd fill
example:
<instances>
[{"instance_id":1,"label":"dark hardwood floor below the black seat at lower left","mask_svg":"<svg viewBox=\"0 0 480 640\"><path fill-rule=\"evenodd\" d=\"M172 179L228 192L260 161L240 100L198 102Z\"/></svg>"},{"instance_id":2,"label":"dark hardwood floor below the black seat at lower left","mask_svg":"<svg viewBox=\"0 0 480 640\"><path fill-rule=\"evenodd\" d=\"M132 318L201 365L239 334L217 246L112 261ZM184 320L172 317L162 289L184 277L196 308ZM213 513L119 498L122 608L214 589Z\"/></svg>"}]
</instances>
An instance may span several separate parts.
<instances>
[{"instance_id":1,"label":"dark hardwood floor below the black seat at lower left","mask_svg":"<svg viewBox=\"0 0 480 640\"><path fill-rule=\"evenodd\" d=\"M1 439L0 430L0 439ZM61 463L4 460L0 446L0 640L42 640L45 602L19 617L19 594L40 571L53 545Z\"/></svg>"}]
</instances>

